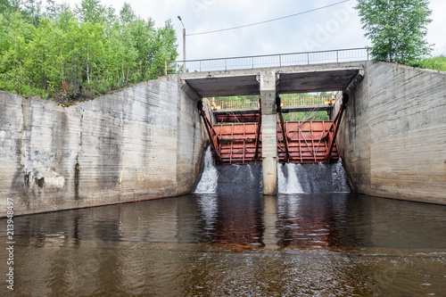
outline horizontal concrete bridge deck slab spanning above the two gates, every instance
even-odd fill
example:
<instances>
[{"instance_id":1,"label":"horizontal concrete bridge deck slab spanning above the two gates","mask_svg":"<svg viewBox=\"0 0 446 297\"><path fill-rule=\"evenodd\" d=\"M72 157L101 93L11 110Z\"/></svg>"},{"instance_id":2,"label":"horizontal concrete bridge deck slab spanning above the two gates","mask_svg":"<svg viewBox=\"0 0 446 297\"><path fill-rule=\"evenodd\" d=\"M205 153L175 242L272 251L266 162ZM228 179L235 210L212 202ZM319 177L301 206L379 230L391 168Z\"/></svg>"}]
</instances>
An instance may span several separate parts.
<instances>
[{"instance_id":1,"label":"horizontal concrete bridge deck slab spanning above the two gates","mask_svg":"<svg viewBox=\"0 0 446 297\"><path fill-rule=\"evenodd\" d=\"M260 95L261 73L277 73L277 93L342 91L363 74L365 62L326 63L248 70L220 70L180 74L202 97Z\"/></svg>"}]
</instances>

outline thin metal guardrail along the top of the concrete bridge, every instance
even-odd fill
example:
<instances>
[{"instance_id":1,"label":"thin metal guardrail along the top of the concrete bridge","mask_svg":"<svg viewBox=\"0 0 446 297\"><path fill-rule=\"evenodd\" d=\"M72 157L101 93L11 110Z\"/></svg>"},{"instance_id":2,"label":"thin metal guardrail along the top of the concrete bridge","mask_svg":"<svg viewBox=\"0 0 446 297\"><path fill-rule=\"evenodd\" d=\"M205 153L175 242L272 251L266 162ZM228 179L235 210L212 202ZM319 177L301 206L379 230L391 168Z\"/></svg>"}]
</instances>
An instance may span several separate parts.
<instances>
[{"instance_id":1,"label":"thin metal guardrail along the top of the concrete bridge","mask_svg":"<svg viewBox=\"0 0 446 297\"><path fill-rule=\"evenodd\" d=\"M368 48L348 48L331 51L292 54L266 54L219 59L166 61L166 73L243 70L265 67L310 65L327 62L368 61Z\"/></svg>"}]
</instances>

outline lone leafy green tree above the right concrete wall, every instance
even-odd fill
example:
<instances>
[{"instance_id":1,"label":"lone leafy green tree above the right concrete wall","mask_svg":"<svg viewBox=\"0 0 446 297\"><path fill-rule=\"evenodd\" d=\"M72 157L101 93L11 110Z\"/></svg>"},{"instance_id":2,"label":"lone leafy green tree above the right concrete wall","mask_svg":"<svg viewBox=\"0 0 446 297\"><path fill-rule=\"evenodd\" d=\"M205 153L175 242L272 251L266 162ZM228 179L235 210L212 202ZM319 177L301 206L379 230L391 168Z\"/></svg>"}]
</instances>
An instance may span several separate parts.
<instances>
[{"instance_id":1,"label":"lone leafy green tree above the right concrete wall","mask_svg":"<svg viewBox=\"0 0 446 297\"><path fill-rule=\"evenodd\" d=\"M429 0L358 0L362 29L376 61L407 63L430 54L425 41Z\"/></svg>"}]
</instances>

